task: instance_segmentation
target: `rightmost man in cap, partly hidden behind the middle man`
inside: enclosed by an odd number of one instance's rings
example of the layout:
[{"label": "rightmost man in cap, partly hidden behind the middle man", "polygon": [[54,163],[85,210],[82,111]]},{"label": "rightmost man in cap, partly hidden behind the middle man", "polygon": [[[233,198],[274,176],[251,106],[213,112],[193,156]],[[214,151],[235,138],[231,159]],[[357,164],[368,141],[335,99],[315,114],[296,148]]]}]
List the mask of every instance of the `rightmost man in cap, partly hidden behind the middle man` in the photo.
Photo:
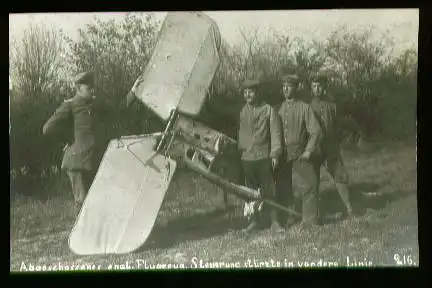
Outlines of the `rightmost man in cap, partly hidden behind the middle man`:
[{"label": "rightmost man in cap, partly hidden behind the middle man", "polygon": [[348,189],[349,176],[344,168],[339,148],[336,104],[324,99],[326,83],[327,78],[323,74],[318,74],[311,83],[311,107],[323,128],[321,142],[322,164],[333,178],[348,216],[352,216],[353,209],[349,200]]}]

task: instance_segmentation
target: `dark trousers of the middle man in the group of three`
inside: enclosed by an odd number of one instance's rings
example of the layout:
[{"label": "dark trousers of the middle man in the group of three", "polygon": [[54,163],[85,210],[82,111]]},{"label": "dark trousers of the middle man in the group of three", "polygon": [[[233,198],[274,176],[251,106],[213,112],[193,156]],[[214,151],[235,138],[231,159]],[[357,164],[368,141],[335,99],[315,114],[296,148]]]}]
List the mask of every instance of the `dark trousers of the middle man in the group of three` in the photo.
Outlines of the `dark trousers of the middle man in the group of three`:
[{"label": "dark trousers of the middle man in the group of three", "polygon": [[[284,206],[290,207],[302,215],[302,222],[316,225],[319,223],[319,159],[309,161],[282,161],[276,170],[276,199]],[[299,190],[293,189],[293,170],[300,176],[302,185]],[[279,221],[285,222],[285,215],[279,215]]]}]

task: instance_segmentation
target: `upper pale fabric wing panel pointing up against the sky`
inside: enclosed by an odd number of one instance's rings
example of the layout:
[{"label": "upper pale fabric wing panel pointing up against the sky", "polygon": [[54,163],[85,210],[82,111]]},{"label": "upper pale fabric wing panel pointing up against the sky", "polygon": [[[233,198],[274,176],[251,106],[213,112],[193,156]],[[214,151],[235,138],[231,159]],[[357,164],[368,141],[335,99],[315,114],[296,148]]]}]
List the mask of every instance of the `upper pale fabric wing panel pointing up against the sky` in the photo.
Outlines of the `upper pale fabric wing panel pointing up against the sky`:
[{"label": "upper pale fabric wing panel pointing up against the sky", "polygon": [[170,12],[135,96],[167,120],[171,109],[195,116],[220,62],[216,23],[199,12]]}]

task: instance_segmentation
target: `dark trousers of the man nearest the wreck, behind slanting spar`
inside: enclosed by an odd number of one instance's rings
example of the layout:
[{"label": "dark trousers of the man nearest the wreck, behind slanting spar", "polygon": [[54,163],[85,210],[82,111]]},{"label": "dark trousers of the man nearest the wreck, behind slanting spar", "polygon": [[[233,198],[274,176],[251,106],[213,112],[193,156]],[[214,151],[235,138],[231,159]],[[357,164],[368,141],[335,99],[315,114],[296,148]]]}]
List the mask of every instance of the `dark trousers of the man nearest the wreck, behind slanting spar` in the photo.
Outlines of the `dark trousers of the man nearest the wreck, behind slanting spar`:
[{"label": "dark trousers of the man nearest the wreck, behind slanting spar", "polygon": [[[260,189],[262,197],[274,198],[275,187],[271,159],[242,161],[242,164],[246,186],[252,189]],[[270,207],[263,205],[261,212],[256,215],[257,218],[261,218],[260,222],[269,221]]]}]

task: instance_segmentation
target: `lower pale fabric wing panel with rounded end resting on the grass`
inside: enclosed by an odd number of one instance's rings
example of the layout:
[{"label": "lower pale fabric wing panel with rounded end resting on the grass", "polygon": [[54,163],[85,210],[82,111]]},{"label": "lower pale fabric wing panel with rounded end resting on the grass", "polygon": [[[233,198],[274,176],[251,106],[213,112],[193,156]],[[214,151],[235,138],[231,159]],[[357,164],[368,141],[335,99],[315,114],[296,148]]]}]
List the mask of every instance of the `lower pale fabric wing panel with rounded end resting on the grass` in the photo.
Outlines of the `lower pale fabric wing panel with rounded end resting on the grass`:
[{"label": "lower pale fabric wing panel with rounded end resting on the grass", "polygon": [[154,155],[155,141],[110,142],[69,237],[73,252],[129,253],[146,241],[176,168],[175,161]]}]

